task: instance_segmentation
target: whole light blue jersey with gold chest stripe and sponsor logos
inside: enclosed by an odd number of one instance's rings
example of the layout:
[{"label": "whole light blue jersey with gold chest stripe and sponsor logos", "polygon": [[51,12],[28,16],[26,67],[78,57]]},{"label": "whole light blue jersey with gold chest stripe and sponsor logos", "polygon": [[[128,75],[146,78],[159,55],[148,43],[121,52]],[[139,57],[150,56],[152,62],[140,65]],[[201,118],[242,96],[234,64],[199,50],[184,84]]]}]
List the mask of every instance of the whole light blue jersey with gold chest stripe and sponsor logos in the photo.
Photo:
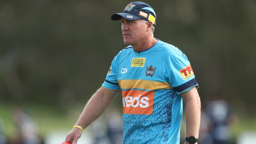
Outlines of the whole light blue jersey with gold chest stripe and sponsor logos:
[{"label": "whole light blue jersey with gold chest stripe and sponsor logos", "polygon": [[179,94],[198,84],[187,56],[177,47],[158,41],[143,52],[124,48],[102,86],[122,90],[123,144],[180,143]]}]

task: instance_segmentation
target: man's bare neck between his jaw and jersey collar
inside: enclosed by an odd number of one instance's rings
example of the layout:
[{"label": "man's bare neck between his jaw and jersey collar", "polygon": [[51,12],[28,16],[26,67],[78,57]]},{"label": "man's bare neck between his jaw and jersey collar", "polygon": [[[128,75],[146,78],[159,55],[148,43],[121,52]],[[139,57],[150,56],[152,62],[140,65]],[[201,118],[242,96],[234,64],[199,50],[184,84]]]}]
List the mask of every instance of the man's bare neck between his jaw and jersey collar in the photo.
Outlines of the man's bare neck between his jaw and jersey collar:
[{"label": "man's bare neck between his jaw and jersey collar", "polygon": [[156,42],[158,42],[158,40],[156,40],[154,37],[150,37],[149,39],[145,39],[141,41],[137,45],[132,45],[132,48],[136,52],[142,52],[154,46]]}]

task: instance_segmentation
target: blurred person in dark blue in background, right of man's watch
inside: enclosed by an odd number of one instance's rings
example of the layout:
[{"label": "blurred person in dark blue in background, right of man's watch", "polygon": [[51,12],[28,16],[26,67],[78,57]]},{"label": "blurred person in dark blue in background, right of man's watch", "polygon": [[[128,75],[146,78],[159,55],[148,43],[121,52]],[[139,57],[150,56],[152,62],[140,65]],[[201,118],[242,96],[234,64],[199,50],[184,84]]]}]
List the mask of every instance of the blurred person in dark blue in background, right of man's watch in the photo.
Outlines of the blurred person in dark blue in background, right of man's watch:
[{"label": "blurred person in dark blue in background, right of man's watch", "polygon": [[218,95],[211,97],[206,111],[201,114],[200,143],[230,144],[230,126],[237,122],[230,105]]}]

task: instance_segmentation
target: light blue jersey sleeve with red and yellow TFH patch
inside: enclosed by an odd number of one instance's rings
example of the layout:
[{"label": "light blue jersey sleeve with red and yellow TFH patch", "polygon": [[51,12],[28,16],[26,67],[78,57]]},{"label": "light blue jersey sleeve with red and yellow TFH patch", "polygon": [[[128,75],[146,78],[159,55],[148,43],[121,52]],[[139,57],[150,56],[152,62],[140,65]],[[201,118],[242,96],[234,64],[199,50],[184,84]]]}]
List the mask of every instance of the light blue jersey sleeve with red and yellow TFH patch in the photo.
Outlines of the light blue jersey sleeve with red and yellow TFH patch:
[{"label": "light blue jersey sleeve with red and yellow TFH patch", "polygon": [[169,84],[176,90],[177,94],[187,92],[193,87],[199,87],[195,80],[193,69],[185,54],[179,50],[177,53],[171,55],[170,59],[171,73]]}]

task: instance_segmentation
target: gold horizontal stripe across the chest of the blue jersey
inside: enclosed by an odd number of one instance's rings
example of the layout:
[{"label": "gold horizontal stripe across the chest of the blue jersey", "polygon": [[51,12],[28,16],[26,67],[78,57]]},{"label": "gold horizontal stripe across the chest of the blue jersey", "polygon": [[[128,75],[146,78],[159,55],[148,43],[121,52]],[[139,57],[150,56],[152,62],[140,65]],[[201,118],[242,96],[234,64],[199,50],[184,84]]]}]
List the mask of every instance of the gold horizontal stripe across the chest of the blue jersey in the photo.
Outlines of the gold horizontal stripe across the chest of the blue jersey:
[{"label": "gold horizontal stripe across the chest of the blue jersey", "polygon": [[118,80],[121,89],[172,89],[168,82],[148,81],[144,79],[121,79]]}]

